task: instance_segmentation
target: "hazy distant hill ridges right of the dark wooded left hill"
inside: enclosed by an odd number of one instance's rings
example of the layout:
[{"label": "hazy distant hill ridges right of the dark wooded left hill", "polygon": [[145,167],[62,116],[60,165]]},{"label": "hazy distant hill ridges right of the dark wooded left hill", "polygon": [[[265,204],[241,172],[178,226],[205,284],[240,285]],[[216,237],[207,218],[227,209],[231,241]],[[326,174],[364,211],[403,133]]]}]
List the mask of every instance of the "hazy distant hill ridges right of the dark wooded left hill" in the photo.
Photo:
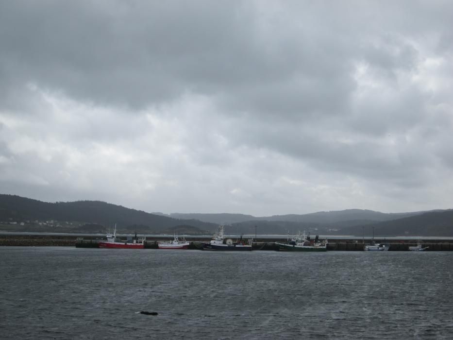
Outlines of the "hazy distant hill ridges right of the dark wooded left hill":
[{"label": "hazy distant hill ridges right of the dark wooded left hill", "polygon": [[[376,235],[386,236],[449,236],[453,235],[453,223],[449,224],[449,210],[414,211],[403,213],[382,213],[367,209],[347,209],[339,211],[319,211],[310,214],[273,215],[269,217],[254,217],[244,214],[182,214],[174,213],[169,216],[179,218],[195,218],[205,222],[225,224],[225,232],[230,234],[295,234],[299,230],[310,231],[320,235],[355,235],[362,233],[371,235],[371,227],[375,227]],[[433,215],[440,214],[440,215]],[[428,217],[427,217],[428,216]],[[437,221],[430,221],[437,216]],[[412,218],[410,220],[406,220]],[[406,221],[423,221],[423,225],[413,228]],[[441,222],[442,221],[442,222]],[[418,225],[413,224],[413,225]],[[448,227],[450,225],[450,227]],[[364,227],[364,228],[362,228]],[[368,235],[366,234],[366,235]]]}]

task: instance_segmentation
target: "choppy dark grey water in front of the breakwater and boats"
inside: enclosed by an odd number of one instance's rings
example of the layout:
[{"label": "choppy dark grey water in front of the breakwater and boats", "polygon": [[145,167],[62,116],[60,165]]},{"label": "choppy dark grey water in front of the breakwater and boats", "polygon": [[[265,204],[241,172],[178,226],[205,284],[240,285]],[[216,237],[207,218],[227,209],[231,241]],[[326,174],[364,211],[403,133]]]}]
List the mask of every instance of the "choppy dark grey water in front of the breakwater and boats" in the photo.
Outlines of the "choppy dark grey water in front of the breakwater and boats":
[{"label": "choppy dark grey water in front of the breakwater and boats", "polygon": [[453,338],[453,252],[2,247],[0,259],[2,339]]}]

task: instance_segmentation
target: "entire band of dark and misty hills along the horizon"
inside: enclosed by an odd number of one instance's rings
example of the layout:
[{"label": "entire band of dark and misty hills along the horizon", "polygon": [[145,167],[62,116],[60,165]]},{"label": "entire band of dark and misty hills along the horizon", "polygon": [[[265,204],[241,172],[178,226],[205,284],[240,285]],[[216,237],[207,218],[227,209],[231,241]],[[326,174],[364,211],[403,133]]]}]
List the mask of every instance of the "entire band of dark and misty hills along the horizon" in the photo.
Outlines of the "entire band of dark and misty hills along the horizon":
[{"label": "entire band of dark and misty hills along the horizon", "polygon": [[[50,221],[49,221],[50,220]],[[49,222],[49,223],[48,223]],[[46,203],[0,194],[2,230],[43,232],[104,232],[117,224],[118,232],[210,234],[218,224],[227,234],[453,236],[453,211],[433,210],[382,213],[364,209],[320,211],[310,214],[254,217],[245,214],[147,213],[100,201]]]}]

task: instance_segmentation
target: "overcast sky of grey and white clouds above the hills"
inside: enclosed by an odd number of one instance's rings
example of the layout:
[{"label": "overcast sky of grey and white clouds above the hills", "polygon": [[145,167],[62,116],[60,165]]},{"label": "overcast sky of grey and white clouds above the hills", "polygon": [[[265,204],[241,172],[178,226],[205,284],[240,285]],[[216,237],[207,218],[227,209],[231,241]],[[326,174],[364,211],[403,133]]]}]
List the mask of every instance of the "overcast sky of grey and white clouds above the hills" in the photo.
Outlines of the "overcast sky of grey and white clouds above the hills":
[{"label": "overcast sky of grey and white clouds above the hills", "polygon": [[453,207],[452,1],[0,1],[0,193]]}]

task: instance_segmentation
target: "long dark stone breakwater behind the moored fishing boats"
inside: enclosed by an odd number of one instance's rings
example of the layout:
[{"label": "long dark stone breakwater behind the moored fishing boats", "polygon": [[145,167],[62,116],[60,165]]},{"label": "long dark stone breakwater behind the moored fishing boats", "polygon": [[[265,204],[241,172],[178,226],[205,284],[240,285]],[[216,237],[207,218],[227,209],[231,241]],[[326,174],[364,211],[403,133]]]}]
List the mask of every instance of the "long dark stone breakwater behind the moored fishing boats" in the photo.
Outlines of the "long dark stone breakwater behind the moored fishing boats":
[{"label": "long dark stone breakwater behind the moored fishing boats", "polygon": [[[157,249],[159,241],[168,241],[172,235],[140,235],[146,237],[145,249]],[[121,241],[127,241],[134,235],[118,235]],[[227,236],[236,239],[235,235]],[[212,236],[185,236],[189,242],[189,249],[202,249],[202,244],[209,242]],[[325,237],[320,236],[320,239]],[[52,233],[0,233],[0,246],[67,246],[80,248],[98,248],[99,242],[105,240],[105,235],[94,234],[52,234]],[[257,235],[253,237],[243,237],[243,240],[252,244],[253,250],[276,250],[275,242],[286,242],[286,236],[282,235]],[[365,244],[371,243],[371,238],[354,238],[345,236],[329,236],[328,251],[363,251]],[[375,237],[376,243],[389,246],[388,251],[407,251],[409,247],[416,246],[418,243],[427,247],[426,251],[453,251],[453,237]]]}]

